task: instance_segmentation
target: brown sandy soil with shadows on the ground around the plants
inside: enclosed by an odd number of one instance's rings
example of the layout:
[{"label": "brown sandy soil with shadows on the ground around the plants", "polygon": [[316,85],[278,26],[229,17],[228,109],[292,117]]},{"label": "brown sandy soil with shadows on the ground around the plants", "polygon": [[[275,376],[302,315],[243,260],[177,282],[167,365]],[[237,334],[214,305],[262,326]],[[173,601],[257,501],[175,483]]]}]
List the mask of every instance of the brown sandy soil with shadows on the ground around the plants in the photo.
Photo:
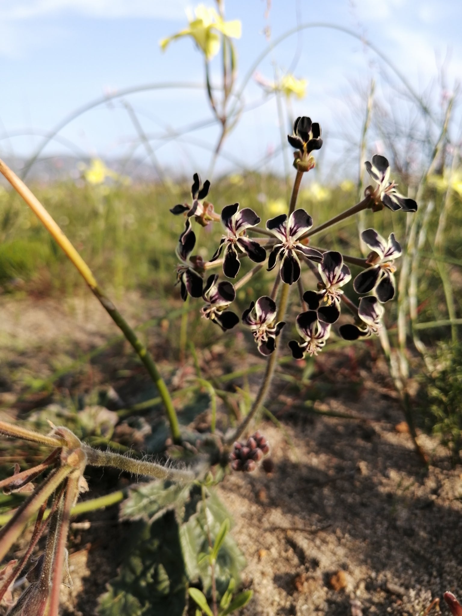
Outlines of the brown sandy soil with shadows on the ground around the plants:
[{"label": "brown sandy soil with shadows on the ground around the plants", "polygon": [[[136,321],[147,306],[128,302],[129,317]],[[88,351],[117,333],[92,298],[40,306],[2,299],[0,323],[3,403],[18,393],[14,362],[21,375],[44,378],[53,368],[50,347]],[[357,366],[347,352],[326,355],[314,381],[328,392],[314,411],[301,406],[304,394],[294,398],[285,381],[275,382],[271,408],[285,432],[268,421],[261,426],[273,472],[233,472],[219,487],[247,559],[243,583],[254,590],[241,614],[418,616],[446,590],[462,595],[462,466],[453,467],[437,440],[421,434],[431,458],[423,465],[381,359]],[[99,479],[89,474],[92,495]],[[108,471],[103,487],[127,483]],[[93,614],[116,574],[128,532],[117,516],[116,507],[97,511],[71,529],[67,616]]]}]

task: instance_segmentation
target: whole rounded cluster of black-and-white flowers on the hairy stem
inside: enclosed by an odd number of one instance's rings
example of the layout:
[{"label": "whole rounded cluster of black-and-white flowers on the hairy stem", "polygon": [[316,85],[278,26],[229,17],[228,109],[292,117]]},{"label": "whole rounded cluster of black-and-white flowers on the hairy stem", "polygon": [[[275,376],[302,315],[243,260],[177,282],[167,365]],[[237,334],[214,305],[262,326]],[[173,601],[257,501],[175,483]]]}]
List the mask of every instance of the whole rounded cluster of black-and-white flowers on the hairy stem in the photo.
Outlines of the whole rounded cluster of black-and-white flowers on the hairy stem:
[{"label": "whole rounded cluster of black-and-white flowers on the hairy stem", "polygon": [[[294,158],[298,173],[312,168],[314,159],[311,153],[322,147],[319,124],[307,117],[297,118],[293,134],[288,135],[288,141],[296,148]],[[395,188],[396,184],[389,180],[389,163],[384,156],[373,156],[365,166],[375,181],[376,188],[367,187],[366,198],[359,205],[372,211],[383,209],[384,206],[392,211],[416,211],[415,201],[400,195]],[[383,304],[395,295],[395,260],[402,254],[402,248],[394,233],[386,240],[375,229],[366,229],[362,232],[362,240],[371,251],[367,258],[347,257],[336,250],[313,248],[309,245],[310,235],[325,229],[328,223],[313,229],[312,217],[303,208],[295,209],[294,203],[287,214],[270,218],[264,226],[259,227],[261,217],[251,208],[241,208],[239,203],[225,206],[221,214],[215,213],[213,205],[206,201],[210,182],[206,180],[202,184],[198,174],[194,174],[193,180],[192,204],[176,205],[171,212],[177,216],[185,216],[185,228],[176,251],[179,259],[176,271],[180,294],[184,300],[188,295],[202,298],[205,302],[201,309],[203,317],[211,320],[223,331],[232,329],[241,321],[251,331],[258,351],[265,356],[271,355],[286,324],[283,320],[285,309],[278,310],[277,306],[278,288],[280,283],[296,283],[302,310],[295,320],[299,340],[288,343],[294,359],[317,355],[323,349],[332,326],[339,321],[342,302],[346,303],[355,316],[354,323],[343,323],[339,326],[338,331],[342,338],[355,340],[380,331]],[[332,222],[336,220],[338,217]],[[192,254],[196,243],[193,222],[203,226],[221,222],[224,231],[209,261]],[[236,280],[246,257],[256,265],[235,282],[234,286],[230,281]],[[353,280],[346,261],[362,267]],[[236,298],[236,290],[251,280],[265,262],[268,272],[275,270],[278,265],[272,293],[251,302],[239,317],[230,309]],[[225,278],[229,280],[219,280],[218,274],[208,275],[205,279],[206,272],[218,266],[222,267]],[[304,267],[314,273],[317,288],[303,290],[301,277]],[[357,306],[344,294],[344,287],[351,280],[352,289],[360,296]]]}]

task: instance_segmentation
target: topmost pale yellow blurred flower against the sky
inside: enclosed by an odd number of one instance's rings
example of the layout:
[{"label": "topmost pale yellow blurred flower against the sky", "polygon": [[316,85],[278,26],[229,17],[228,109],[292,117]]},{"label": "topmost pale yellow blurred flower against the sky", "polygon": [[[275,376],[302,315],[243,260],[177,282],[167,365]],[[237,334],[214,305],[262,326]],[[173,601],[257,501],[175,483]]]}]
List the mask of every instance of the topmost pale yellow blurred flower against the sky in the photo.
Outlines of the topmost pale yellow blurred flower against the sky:
[{"label": "topmost pale yellow blurred flower against the sky", "polygon": [[220,50],[220,37],[217,33],[229,38],[241,38],[241,22],[238,19],[225,22],[215,9],[208,8],[204,4],[200,4],[194,13],[195,15],[187,11],[188,28],[160,41],[162,51],[165,51],[171,41],[183,36],[192,36],[206,59],[211,60]]}]

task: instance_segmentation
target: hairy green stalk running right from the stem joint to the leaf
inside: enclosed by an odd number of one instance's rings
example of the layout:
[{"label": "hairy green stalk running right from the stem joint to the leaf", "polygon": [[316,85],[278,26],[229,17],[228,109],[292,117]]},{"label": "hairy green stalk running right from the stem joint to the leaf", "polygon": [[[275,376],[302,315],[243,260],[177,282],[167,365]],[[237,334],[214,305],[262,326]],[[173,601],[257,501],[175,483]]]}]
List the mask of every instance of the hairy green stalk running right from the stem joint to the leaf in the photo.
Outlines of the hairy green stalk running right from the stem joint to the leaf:
[{"label": "hairy green stalk running right from the stem joint to the leaf", "polygon": [[134,460],[115,452],[101,452],[92,449],[88,445],[82,445],[82,450],[87,456],[89,466],[111,466],[121,471],[131,472],[134,475],[155,477],[156,479],[170,479],[176,482],[188,482],[195,479],[192,471],[180,471],[179,469],[167,468],[153,462]]}]

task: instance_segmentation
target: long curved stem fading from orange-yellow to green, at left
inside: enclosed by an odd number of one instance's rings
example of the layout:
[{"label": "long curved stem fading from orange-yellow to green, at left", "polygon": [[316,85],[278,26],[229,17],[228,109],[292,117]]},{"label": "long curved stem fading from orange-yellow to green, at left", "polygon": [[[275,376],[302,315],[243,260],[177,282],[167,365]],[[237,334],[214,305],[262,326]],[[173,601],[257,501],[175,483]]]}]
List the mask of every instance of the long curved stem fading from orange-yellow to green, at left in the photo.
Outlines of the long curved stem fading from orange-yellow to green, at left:
[{"label": "long curved stem fading from orange-yellow to green, at left", "polygon": [[[134,350],[137,352],[140,360],[144,363],[145,368],[153,379],[153,382],[155,383],[155,386],[157,387],[158,392],[162,398],[170,423],[173,440],[175,442],[180,442],[181,434],[178,419],[176,416],[176,411],[173,406],[172,399],[168,392],[167,386],[155,365],[152,355],[150,355],[145,346],[139,341],[134,330],[132,330],[132,328],[128,325],[126,320],[122,317],[122,315],[116,309],[110,299],[108,299],[105,294],[103,294],[102,290],[98,286],[97,281],[95,280],[94,275],[91,272],[91,269],[88,267],[86,262],[84,262],[82,257],[76,251],[68,238],[64,235],[60,227],[56,224],[54,219],[46,211],[40,201],[35,197],[35,195],[33,195],[29,188],[26,187],[22,180],[20,180],[18,176],[13,171],[11,171],[11,169],[9,169],[9,167],[7,167],[7,165],[1,160],[0,172],[6,177],[6,179],[10,182],[10,184],[18,192],[18,194],[23,198],[23,200],[25,200],[27,205],[32,209],[34,214],[36,214],[38,219],[43,223],[44,227],[51,234],[51,236],[54,238],[60,248],[62,248],[65,254],[67,254],[70,261],[75,265],[75,267],[79,271],[79,274],[82,275],[85,282],[90,287],[91,291],[94,293],[95,297],[107,310],[112,320],[120,328],[126,339],[130,342]],[[41,440],[41,442],[43,442],[43,440]],[[54,447],[59,447],[59,445],[60,443],[53,444]]]}]

